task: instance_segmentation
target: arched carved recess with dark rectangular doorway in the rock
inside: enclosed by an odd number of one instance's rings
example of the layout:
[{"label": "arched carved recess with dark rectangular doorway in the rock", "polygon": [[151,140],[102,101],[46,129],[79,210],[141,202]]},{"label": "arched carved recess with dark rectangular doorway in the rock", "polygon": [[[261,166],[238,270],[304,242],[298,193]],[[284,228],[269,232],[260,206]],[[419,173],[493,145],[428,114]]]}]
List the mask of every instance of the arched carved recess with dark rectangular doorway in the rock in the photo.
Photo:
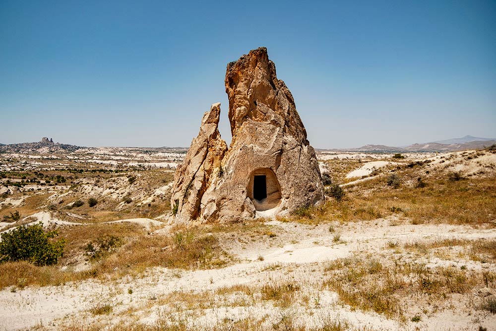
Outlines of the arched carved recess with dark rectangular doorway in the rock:
[{"label": "arched carved recess with dark rectangular doorway in the rock", "polygon": [[255,210],[277,207],[281,202],[281,186],[276,174],[270,168],[255,169],[249,177],[247,195]]}]

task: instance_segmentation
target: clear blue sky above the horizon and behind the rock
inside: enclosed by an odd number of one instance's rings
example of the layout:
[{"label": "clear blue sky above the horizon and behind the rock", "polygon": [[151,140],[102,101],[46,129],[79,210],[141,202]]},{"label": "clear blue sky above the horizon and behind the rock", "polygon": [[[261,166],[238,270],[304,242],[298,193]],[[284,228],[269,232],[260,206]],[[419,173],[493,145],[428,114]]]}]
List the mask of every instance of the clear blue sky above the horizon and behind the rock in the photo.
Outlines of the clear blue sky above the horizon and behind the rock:
[{"label": "clear blue sky above the horizon and behind the rock", "polygon": [[189,146],[265,46],[317,148],[496,137],[496,1],[0,0],[0,142]]}]

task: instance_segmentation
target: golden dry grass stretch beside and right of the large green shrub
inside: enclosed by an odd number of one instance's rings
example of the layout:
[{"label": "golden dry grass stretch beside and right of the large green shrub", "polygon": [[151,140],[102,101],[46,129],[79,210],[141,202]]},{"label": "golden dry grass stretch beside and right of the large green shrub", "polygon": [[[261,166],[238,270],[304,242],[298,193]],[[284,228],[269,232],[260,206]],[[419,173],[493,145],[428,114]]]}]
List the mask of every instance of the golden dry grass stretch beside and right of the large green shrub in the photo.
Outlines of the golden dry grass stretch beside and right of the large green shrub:
[{"label": "golden dry grass stretch beside and right of the large green shrub", "polygon": [[[26,285],[60,285],[103,275],[110,275],[112,279],[127,274],[136,276],[151,266],[215,268],[229,261],[217,237],[200,229],[179,231],[173,235],[148,235],[142,228],[130,223],[91,224],[63,227],[61,235],[66,238],[67,244],[59,265],[40,267],[25,262],[0,264],[0,288],[16,286],[19,278],[26,278]],[[62,264],[83,262],[85,244],[105,235],[122,239],[124,245],[114,254],[90,264],[84,271],[72,271],[71,268],[61,270]]]}]

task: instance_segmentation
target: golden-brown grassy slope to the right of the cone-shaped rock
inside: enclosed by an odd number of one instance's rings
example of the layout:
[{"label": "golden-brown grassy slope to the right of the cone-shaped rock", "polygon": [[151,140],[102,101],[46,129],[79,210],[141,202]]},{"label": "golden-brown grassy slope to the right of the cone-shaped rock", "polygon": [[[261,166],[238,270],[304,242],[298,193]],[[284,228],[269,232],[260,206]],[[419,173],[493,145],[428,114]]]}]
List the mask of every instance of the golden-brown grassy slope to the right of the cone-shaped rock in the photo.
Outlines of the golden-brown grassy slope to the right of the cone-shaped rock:
[{"label": "golden-brown grassy slope to the right of the cone-shaped rock", "polygon": [[279,218],[305,224],[329,220],[373,220],[388,215],[410,219],[413,224],[448,223],[496,227],[496,179],[466,181],[428,180],[425,188],[401,186],[392,189],[385,178],[346,188],[342,201],[329,199],[321,206],[307,208],[305,215]]}]

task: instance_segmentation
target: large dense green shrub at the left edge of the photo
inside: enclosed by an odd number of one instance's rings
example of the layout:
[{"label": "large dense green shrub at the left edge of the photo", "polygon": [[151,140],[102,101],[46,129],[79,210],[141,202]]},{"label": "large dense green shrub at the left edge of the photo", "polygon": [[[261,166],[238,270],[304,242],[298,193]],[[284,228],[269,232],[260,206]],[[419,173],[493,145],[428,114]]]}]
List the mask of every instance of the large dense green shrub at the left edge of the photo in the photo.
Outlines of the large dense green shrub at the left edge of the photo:
[{"label": "large dense green shrub at the left edge of the photo", "polygon": [[55,265],[63,254],[65,239],[51,241],[56,230],[45,231],[43,223],[21,225],[0,235],[0,262],[28,261],[35,265]]}]

